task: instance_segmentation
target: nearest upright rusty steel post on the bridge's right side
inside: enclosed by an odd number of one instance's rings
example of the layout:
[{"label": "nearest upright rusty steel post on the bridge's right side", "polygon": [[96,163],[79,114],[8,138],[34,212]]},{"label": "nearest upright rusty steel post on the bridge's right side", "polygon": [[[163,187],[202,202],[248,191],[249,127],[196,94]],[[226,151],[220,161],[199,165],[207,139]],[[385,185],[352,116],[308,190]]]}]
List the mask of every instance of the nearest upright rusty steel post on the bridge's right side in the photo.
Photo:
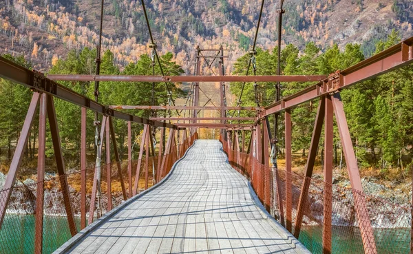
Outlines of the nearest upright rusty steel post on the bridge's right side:
[{"label": "nearest upright rusty steel post on the bridge's right side", "polygon": [[324,223],[323,223],[323,253],[331,253],[331,215],[332,215],[332,138],[333,112],[330,96],[326,100],[324,112]]}]

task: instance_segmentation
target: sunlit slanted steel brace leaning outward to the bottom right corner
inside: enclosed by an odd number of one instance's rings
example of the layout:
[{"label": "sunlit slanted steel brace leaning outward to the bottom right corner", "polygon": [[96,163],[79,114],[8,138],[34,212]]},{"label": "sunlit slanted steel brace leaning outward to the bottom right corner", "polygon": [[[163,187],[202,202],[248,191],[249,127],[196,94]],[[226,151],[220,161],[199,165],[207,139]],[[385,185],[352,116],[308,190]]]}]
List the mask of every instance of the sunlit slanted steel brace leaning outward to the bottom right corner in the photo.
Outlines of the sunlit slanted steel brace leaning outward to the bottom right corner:
[{"label": "sunlit slanted steel brace leaning outward to the bottom right corner", "polygon": [[361,186],[359,167],[357,166],[356,156],[352,147],[346,114],[344,113],[343,102],[341,101],[339,93],[332,96],[332,107],[334,108],[337,127],[339,127],[339,134],[341,145],[343,145],[344,158],[346,158],[347,171],[352,187],[354,207],[356,209],[357,220],[359,222],[364,251],[368,254],[375,254],[377,253],[376,242],[374,241],[373,229],[370,222],[370,217],[368,215],[366,198],[364,198],[363,195],[363,187]]}]

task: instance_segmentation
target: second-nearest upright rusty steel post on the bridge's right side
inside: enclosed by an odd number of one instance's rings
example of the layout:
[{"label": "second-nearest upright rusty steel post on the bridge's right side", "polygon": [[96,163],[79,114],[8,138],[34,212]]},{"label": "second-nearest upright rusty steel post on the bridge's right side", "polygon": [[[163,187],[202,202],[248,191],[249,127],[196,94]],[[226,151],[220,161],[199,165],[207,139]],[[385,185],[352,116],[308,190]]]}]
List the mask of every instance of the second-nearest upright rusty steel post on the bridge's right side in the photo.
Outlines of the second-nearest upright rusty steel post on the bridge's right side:
[{"label": "second-nearest upright rusty steel post on the bridge's right side", "polygon": [[291,186],[291,109],[286,109],[284,122],[286,128],[286,229],[291,233],[293,221],[293,187]]}]

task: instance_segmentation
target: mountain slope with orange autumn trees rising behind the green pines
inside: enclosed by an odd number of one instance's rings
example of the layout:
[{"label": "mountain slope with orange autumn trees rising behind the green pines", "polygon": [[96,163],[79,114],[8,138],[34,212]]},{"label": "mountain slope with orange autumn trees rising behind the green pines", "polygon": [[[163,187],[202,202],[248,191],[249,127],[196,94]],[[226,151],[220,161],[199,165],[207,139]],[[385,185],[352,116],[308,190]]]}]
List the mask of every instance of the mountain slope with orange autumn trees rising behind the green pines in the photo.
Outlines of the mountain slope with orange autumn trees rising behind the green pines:
[{"label": "mountain slope with orange autumn trees rising behind the green pines", "polygon": [[[260,1],[145,1],[158,49],[171,51],[187,73],[195,45],[229,49],[226,73],[251,45]],[[277,3],[266,1],[257,44],[272,50],[277,37]],[[322,49],[338,43],[362,43],[366,55],[392,28],[412,36],[409,0],[291,0],[284,3],[283,39],[302,47],[315,41]],[[100,1],[6,0],[0,3],[0,53],[24,54],[47,71],[69,50],[96,47]],[[121,67],[149,52],[149,33],[140,1],[105,1],[103,49],[112,50]],[[216,72],[216,70],[213,70]],[[211,71],[204,67],[204,74]]]}]

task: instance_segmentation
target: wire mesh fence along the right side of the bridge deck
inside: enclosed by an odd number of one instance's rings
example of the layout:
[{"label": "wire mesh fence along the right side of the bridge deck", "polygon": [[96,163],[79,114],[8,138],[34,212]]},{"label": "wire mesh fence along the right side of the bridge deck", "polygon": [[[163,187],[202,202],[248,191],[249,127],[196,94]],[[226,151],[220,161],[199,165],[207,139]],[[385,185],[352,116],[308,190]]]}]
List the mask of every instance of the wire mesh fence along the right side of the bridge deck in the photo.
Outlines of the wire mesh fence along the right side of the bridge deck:
[{"label": "wire mesh fence along the right side of the bridge deck", "polygon": [[[229,163],[251,180],[264,207],[288,231],[299,235],[311,253],[374,253],[374,249],[410,253],[412,204],[396,204],[351,187],[267,167],[253,153],[235,151],[225,140],[221,142]],[[308,192],[301,195],[306,184]],[[302,219],[297,225],[299,212]]]}]

